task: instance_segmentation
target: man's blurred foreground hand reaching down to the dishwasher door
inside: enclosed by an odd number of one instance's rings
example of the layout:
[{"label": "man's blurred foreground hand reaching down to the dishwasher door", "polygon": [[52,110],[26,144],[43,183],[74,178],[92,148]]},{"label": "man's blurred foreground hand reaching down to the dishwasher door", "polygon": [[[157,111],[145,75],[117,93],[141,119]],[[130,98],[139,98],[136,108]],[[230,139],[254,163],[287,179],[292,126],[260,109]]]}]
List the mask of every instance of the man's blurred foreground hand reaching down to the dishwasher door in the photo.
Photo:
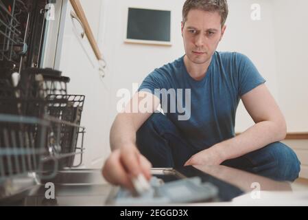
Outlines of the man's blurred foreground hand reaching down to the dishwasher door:
[{"label": "man's blurred foreground hand reaching down to the dishwasher door", "polygon": [[136,146],[128,146],[112,151],[104,164],[102,173],[111,184],[133,190],[132,177],[142,173],[147,180],[150,180],[151,167],[151,163],[139,153]]}]

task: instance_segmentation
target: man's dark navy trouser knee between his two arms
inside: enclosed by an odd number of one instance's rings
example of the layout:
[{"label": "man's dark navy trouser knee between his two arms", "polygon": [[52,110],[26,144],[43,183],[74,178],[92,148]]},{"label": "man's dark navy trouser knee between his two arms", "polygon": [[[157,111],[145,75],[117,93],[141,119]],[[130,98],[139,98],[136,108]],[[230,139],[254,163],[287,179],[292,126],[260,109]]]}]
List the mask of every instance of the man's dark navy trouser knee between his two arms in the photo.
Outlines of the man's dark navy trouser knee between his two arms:
[{"label": "man's dark navy trouser knee between his two arms", "polygon": [[182,166],[196,153],[178,127],[162,113],[154,113],[137,131],[137,147],[154,167]]}]

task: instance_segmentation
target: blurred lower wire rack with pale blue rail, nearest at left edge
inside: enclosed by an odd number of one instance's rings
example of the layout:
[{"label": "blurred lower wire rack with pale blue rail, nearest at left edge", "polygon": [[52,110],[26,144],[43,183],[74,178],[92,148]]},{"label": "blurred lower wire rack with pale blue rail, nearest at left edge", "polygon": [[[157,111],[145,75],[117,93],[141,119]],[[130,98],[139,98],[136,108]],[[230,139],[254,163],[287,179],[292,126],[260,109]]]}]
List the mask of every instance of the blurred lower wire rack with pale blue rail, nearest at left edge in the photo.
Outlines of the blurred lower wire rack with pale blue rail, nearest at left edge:
[{"label": "blurred lower wire rack with pale blue rail, nearest at left edge", "polygon": [[47,126],[38,118],[0,114],[1,178],[38,170]]}]

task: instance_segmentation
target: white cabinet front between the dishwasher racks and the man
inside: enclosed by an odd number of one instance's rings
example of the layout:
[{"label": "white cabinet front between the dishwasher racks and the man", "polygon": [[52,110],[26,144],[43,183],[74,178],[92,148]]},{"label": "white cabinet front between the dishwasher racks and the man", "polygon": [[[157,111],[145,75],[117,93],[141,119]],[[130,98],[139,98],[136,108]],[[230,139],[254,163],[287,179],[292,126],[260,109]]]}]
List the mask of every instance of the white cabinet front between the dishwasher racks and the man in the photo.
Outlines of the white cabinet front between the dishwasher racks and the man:
[{"label": "white cabinet front between the dishwasher racks and the man", "polygon": [[[99,18],[101,3],[99,1],[81,1],[91,25],[93,34],[97,39],[99,32]],[[99,6],[99,7],[98,7]],[[61,21],[58,31],[56,61],[54,68],[60,69],[64,76],[69,76],[69,94],[82,94],[86,96],[82,111],[81,125],[86,127],[84,135],[84,162],[82,168],[101,168],[109,150],[108,125],[108,73],[104,78],[99,76],[97,59],[84,35],[80,33],[81,26],[77,21],[73,25],[71,19],[71,4],[62,2]],[[75,28],[75,30],[74,30]],[[77,159],[79,157],[76,157]]]}]

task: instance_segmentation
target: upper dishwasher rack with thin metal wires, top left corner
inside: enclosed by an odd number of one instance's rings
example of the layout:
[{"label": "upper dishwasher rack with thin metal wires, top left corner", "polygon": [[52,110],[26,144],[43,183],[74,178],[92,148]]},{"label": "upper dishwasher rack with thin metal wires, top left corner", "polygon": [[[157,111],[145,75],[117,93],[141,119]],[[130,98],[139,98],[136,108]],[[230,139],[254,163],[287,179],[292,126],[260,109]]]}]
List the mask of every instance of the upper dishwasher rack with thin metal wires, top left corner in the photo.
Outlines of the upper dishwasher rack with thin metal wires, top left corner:
[{"label": "upper dishwasher rack with thin metal wires, top left corner", "polygon": [[45,43],[46,5],[51,0],[0,1],[0,78],[40,67]]}]

